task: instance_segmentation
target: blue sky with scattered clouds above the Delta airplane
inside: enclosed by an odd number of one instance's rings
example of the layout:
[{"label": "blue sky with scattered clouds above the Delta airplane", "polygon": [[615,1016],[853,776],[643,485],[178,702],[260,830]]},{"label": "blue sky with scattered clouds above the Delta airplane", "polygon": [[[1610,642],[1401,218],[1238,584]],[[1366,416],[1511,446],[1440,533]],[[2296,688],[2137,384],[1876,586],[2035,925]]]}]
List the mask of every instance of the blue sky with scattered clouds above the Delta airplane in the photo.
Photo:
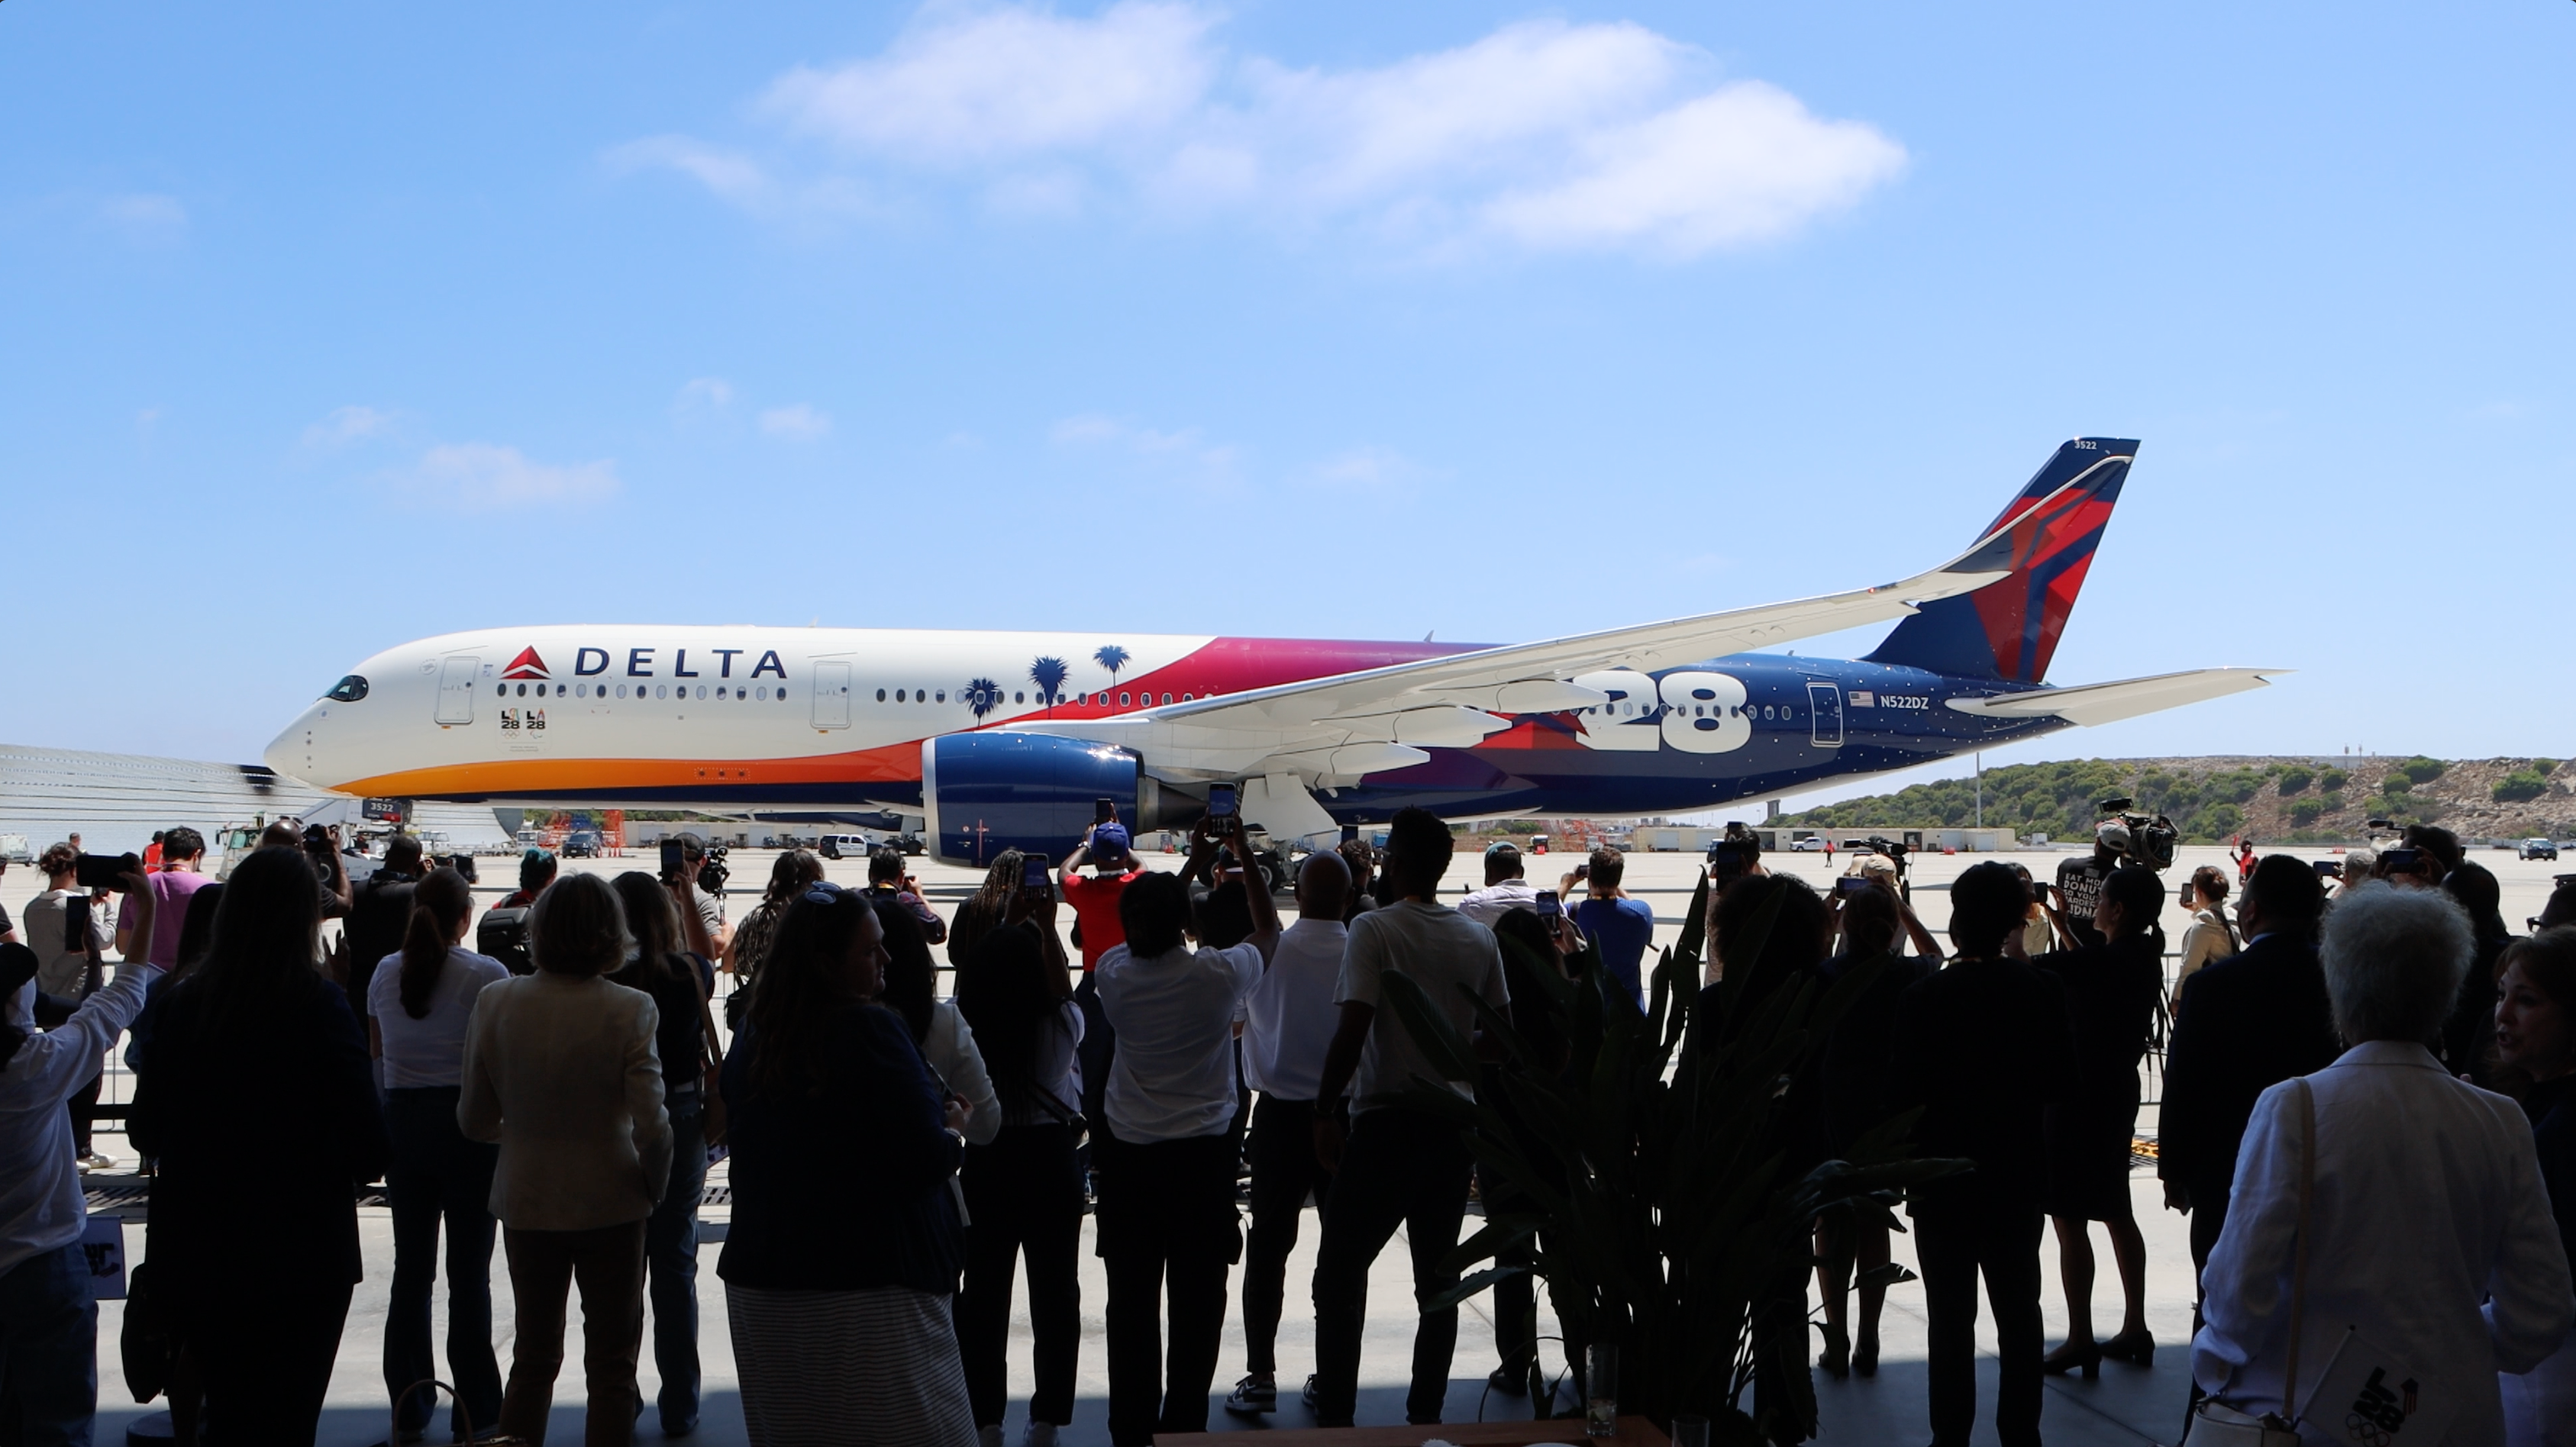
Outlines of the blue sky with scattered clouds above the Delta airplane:
[{"label": "blue sky with scattered clouds above the Delta airplane", "polygon": [[2571,39],[15,0],[0,736],[250,760],[513,621],[1600,628],[1914,572],[2094,433],[2053,680],[2300,672],[2014,757],[2568,754]]}]

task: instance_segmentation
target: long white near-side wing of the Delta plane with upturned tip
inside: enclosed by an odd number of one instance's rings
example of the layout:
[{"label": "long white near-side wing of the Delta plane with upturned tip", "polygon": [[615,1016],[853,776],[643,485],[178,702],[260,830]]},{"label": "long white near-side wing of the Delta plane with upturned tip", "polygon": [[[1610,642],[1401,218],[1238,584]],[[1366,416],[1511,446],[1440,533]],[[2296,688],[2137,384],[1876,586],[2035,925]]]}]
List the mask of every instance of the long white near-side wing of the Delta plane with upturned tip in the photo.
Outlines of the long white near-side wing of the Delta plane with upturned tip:
[{"label": "long white near-side wing of the Delta plane with upturned tip", "polygon": [[1170,703],[1118,718],[1018,726],[1139,749],[1146,767],[1164,778],[1242,772],[1358,778],[1417,765],[1430,757],[1422,749],[1473,747],[1486,734],[1510,729],[1502,713],[1607,703],[1607,695],[1566,682],[1579,672],[1667,669],[1904,618],[1919,602],[1973,592],[2009,574],[2009,551],[2007,525],[1999,525],[1947,564],[1883,587],[1479,649]]}]

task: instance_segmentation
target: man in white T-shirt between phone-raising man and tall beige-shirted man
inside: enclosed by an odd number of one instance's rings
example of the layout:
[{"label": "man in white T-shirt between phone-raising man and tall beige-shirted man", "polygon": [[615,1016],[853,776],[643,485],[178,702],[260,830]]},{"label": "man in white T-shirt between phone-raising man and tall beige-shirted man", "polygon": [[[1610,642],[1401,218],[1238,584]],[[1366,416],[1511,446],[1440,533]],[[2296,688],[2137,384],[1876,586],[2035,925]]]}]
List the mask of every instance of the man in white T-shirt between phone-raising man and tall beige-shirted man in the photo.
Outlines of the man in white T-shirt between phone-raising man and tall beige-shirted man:
[{"label": "man in white T-shirt between phone-raising man and tall beige-shirted man", "polygon": [[1252,1107],[1252,1238],[1244,1244],[1244,1380],[1226,1411],[1257,1416],[1278,1408],[1278,1331],[1288,1295],[1288,1254],[1298,1215],[1314,1197],[1316,1215],[1332,1172],[1314,1156],[1314,1094],[1324,1053],[1342,1020],[1337,984],[1350,929],[1350,865],[1337,852],[1306,855],[1296,875],[1296,924],[1244,1002],[1244,1084],[1262,1092]]}]

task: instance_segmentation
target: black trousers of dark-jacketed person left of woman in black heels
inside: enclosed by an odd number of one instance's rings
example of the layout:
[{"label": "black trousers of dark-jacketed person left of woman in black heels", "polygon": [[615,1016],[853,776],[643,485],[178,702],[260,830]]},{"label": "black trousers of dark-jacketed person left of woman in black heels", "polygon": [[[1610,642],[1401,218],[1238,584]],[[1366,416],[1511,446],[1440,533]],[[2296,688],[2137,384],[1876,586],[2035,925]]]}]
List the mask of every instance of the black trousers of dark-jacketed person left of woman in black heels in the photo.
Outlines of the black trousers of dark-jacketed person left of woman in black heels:
[{"label": "black trousers of dark-jacketed person left of woman in black heels", "polygon": [[2040,1442],[2040,1202],[1958,1200],[1914,1208],[1914,1259],[1929,1318],[1932,1442],[1965,1447],[1976,1426],[1976,1280],[1994,1303],[1994,1432]]}]

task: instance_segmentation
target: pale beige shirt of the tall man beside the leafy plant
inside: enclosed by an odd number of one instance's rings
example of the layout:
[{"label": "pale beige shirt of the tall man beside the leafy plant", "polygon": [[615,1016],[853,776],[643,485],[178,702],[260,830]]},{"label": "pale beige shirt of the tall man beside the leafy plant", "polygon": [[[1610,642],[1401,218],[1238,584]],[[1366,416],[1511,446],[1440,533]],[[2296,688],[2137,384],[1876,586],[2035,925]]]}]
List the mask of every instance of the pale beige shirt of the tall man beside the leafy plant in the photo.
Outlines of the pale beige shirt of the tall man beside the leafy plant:
[{"label": "pale beige shirt of the tall man beside the leafy plant", "polygon": [[[1512,1004],[1502,986],[1502,945],[1494,942],[1492,929],[1466,914],[1445,904],[1399,899],[1352,919],[1334,1002],[1360,1002],[1378,1012],[1368,1025],[1360,1074],[1350,1087],[1352,1110],[1396,1105],[1396,1092],[1417,1076],[1440,1079],[1440,1066],[1422,1053],[1422,1045],[1414,1045],[1412,1030],[1381,1002],[1378,978],[1386,971],[1404,971],[1430,996],[1432,1009],[1450,1022],[1450,1030],[1468,1040],[1476,1038],[1476,1009],[1458,999],[1458,986],[1497,1009]],[[1121,1045],[1126,1045],[1123,1038]],[[1448,1081],[1448,1087],[1468,1099],[1476,1097],[1476,1081]]]}]

